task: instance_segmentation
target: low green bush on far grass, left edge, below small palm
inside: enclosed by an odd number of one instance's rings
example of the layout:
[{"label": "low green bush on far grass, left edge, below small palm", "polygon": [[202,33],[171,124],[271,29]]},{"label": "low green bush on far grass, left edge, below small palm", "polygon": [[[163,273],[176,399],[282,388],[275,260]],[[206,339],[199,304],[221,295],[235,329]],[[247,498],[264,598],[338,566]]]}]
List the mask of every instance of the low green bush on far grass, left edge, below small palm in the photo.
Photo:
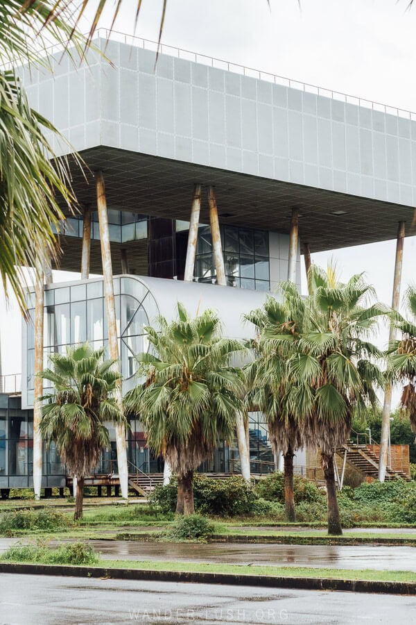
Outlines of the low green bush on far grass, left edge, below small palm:
[{"label": "low green bush on far grass, left edge, below small palm", "polygon": [[12,510],[3,512],[0,517],[0,534],[14,530],[53,531],[65,530],[73,523],[62,512],[53,508],[42,510]]}]

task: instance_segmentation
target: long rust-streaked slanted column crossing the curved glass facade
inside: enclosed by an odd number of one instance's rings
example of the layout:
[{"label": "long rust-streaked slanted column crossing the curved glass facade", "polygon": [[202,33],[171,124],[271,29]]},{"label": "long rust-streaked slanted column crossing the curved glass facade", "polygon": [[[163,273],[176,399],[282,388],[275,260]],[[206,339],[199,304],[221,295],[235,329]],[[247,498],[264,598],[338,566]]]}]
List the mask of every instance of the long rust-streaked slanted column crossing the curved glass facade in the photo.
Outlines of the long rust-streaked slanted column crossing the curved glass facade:
[{"label": "long rust-streaked slanted column crossing the curved glass facade", "polygon": [[[105,185],[102,172],[96,173],[96,193],[97,193],[97,210],[98,223],[100,226],[101,240],[101,258],[103,262],[103,283],[105,309],[107,312],[107,328],[108,328],[108,351],[112,360],[116,360],[116,367],[120,367],[119,361],[119,341],[117,339],[116,326],[116,306],[114,303],[114,286],[112,277],[111,249],[110,249],[110,233],[108,229],[107,201],[105,199]],[[119,381],[116,389],[116,399],[122,406],[123,398],[121,394],[121,381]],[[117,462],[119,465],[119,478],[121,485],[121,496],[128,498],[128,467],[127,452],[125,445],[125,428],[116,426],[116,447]]]}]

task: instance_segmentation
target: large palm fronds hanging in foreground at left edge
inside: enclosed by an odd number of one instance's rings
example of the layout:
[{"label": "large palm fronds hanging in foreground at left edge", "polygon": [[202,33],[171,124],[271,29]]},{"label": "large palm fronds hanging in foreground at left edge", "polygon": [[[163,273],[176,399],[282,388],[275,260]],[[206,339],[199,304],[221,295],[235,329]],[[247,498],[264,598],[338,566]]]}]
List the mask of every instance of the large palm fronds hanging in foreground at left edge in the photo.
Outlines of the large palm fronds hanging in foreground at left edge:
[{"label": "large palm fronds hanging in foreground at left edge", "polygon": [[[64,215],[60,204],[73,196],[69,170],[56,159],[44,131],[58,134],[52,124],[28,104],[16,65],[48,67],[42,50],[63,43],[73,30],[69,8],[42,28],[55,2],[0,3],[0,278],[6,296],[15,293],[21,310],[24,299],[22,266],[37,267],[58,256],[55,232]],[[73,35],[76,51],[82,38]]]}]

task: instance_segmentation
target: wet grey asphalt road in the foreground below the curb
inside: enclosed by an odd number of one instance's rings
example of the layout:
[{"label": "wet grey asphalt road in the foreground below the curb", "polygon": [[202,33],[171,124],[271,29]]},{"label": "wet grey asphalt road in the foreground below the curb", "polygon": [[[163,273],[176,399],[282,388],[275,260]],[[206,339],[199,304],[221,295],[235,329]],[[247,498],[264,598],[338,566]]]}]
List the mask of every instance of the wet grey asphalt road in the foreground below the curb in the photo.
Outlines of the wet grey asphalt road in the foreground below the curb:
[{"label": "wet grey asphalt road in the foreground below the curb", "polygon": [[0,625],[410,625],[415,619],[414,597],[0,576]]}]

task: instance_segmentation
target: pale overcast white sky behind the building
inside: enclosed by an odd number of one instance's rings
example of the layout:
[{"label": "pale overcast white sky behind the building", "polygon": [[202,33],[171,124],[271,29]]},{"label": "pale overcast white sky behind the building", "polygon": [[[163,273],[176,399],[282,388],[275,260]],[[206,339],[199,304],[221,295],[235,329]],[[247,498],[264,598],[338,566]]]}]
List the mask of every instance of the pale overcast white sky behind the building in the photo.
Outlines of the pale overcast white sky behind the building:
[{"label": "pale overcast white sky behind the building", "polygon": [[[133,34],[135,6],[124,0],[116,30]],[[161,11],[162,0],[143,0],[136,34],[157,40]],[[88,22],[87,14],[83,30]],[[109,15],[102,25],[110,26]],[[162,42],[416,111],[415,35],[408,0],[270,0],[270,9],[266,0],[168,0]],[[390,303],[395,241],[317,253],[313,261],[327,265],[331,257],[345,278],[365,271]],[[416,238],[406,238],[402,287],[415,280],[415,260]],[[68,274],[55,275],[62,278]],[[8,312],[0,305],[3,374],[19,372],[19,315],[13,303]]]}]

